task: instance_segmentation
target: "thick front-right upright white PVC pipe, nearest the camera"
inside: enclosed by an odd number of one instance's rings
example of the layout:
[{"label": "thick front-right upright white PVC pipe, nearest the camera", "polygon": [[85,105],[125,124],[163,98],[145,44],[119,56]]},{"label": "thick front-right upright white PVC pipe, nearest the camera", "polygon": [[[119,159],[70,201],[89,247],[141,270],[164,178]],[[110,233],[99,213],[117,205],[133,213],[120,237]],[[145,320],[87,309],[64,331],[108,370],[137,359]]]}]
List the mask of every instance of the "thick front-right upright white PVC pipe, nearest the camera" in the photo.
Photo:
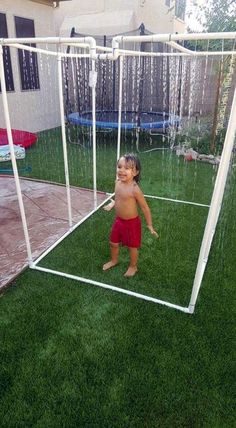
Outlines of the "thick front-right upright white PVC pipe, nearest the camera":
[{"label": "thick front-right upright white PVC pipe, nearest the camera", "polygon": [[211,243],[214,237],[215,228],[220,214],[222,199],[224,195],[227,175],[230,165],[230,157],[233,150],[236,134],[236,89],[228,123],[228,128],[224,141],[224,148],[221,155],[221,162],[216,177],[211,206],[208,213],[206,227],[203,235],[202,245],[199,253],[196,274],[193,283],[192,295],[189,303],[189,312],[193,313],[197,301],[199,289],[202,283],[203,274],[206,268]]}]

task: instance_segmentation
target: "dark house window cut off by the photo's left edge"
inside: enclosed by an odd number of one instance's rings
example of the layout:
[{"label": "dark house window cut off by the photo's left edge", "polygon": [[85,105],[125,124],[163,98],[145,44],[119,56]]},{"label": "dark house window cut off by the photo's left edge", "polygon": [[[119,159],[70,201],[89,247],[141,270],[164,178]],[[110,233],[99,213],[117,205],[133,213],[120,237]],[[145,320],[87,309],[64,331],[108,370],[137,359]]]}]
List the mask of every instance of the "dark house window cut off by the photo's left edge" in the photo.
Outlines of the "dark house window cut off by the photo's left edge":
[{"label": "dark house window cut off by the photo's left edge", "polygon": [[[7,20],[5,13],[0,13],[0,38],[8,38],[7,32]],[[6,80],[6,89],[7,91],[14,91],[14,82],[11,66],[11,55],[9,46],[3,46],[3,64],[4,64],[4,73]],[[0,86],[1,91],[1,86]]]}]

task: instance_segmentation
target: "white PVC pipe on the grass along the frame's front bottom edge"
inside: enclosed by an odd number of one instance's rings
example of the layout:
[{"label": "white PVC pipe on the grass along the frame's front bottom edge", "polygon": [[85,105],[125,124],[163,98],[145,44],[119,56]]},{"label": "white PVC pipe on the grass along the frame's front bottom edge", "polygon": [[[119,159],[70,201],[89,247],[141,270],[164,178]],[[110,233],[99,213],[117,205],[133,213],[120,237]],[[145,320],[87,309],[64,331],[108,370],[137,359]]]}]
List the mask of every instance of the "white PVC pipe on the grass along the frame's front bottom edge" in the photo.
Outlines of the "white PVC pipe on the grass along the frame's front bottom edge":
[{"label": "white PVC pipe on the grass along the frame's front bottom edge", "polygon": [[84,282],[85,284],[96,285],[97,287],[106,288],[108,290],[116,291],[118,293],[126,294],[128,296],[137,297],[138,299],[147,300],[148,302],[157,303],[159,305],[167,306],[172,309],[177,309],[178,311],[185,312],[186,314],[190,313],[189,309],[183,306],[175,305],[173,303],[166,302],[165,300],[156,299],[155,297],[146,296],[145,294],[136,293],[131,290],[126,290],[125,288],[115,287],[114,285],[93,281],[92,279],[83,278],[81,276],[76,276],[76,275],[70,275],[68,273],[64,273],[64,272],[60,272],[60,271],[56,271],[48,268],[43,268],[40,266],[31,266],[31,269],[39,270],[41,272],[51,273],[53,275],[58,275],[63,278],[73,279],[75,281]]}]

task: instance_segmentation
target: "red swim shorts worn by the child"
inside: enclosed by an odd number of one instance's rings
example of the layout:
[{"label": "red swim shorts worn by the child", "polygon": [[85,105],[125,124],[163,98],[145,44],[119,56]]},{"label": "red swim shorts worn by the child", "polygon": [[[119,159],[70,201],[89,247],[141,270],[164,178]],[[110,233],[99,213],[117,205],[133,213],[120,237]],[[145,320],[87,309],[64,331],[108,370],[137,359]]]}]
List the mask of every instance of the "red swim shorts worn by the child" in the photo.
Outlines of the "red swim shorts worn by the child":
[{"label": "red swim shorts worn by the child", "polygon": [[122,244],[129,248],[139,248],[141,245],[140,217],[129,220],[116,217],[111,229],[110,242]]}]

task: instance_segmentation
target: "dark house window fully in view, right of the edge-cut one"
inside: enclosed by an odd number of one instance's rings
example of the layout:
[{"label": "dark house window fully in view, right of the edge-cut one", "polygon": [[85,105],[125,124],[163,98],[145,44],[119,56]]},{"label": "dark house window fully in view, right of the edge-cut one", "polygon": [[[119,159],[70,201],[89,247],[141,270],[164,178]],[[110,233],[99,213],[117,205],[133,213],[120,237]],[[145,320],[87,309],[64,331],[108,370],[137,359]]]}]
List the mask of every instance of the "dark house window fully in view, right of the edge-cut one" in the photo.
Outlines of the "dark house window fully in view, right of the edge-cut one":
[{"label": "dark house window fully in view, right of the edge-cut one", "polygon": [[[16,37],[35,37],[34,21],[15,16]],[[35,43],[28,46],[36,47]],[[18,49],[22,90],[39,89],[38,60],[35,52]]]}]

